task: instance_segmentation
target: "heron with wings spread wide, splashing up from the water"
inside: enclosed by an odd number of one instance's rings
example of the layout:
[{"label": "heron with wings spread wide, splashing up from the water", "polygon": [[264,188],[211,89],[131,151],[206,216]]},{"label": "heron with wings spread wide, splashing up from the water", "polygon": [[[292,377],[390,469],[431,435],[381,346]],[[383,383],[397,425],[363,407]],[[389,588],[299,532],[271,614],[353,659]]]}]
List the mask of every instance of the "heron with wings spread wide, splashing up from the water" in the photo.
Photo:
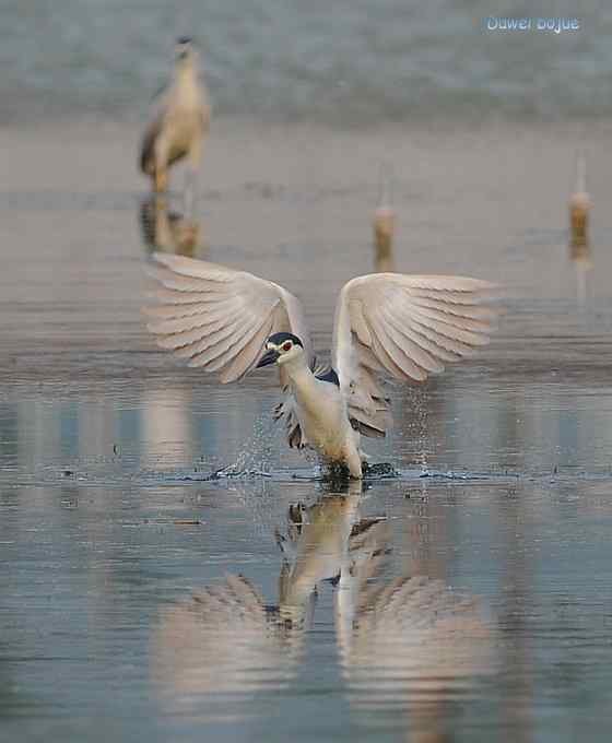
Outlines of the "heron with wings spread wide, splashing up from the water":
[{"label": "heron with wings spread wide, splashing up from the water", "polygon": [[374,273],[340,292],[331,369],[318,373],[302,305],[286,290],[245,271],[155,253],[162,305],[149,329],[176,356],[239,379],[280,367],[291,447],[310,447],[328,464],[362,477],[360,436],[385,436],[389,401],[378,375],[423,381],[489,342],[492,284],[461,276]]}]

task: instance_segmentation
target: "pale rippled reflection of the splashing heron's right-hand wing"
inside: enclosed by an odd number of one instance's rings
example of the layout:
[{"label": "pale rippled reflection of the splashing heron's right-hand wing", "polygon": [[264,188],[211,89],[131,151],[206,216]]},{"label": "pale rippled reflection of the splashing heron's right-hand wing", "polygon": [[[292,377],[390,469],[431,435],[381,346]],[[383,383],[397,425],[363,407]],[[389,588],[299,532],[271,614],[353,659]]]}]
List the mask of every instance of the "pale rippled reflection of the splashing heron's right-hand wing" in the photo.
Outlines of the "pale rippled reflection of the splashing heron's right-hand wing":
[{"label": "pale rippled reflection of the splashing heron's right-hand wing", "polygon": [[358,595],[352,625],[341,634],[351,698],[436,700],[461,689],[485,668],[489,630],[478,600],[442,580],[399,576]]}]

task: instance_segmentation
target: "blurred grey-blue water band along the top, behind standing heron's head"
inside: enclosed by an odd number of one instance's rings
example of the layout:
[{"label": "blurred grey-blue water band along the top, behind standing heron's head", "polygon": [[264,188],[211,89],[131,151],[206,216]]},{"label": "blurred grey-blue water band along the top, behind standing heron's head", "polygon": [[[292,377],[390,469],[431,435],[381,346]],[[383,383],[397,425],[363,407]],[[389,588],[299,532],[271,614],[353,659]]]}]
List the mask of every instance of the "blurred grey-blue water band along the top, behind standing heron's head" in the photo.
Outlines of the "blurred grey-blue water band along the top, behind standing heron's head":
[{"label": "blurred grey-blue water band along the top, behind standing heron's head", "polygon": [[[486,31],[491,15],[579,31]],[[363,128],[432,119],[575,120],[612,111],[601,0],[3,0],[0,121],[138,119],[178,35],[199,43],[219,118]]]}]

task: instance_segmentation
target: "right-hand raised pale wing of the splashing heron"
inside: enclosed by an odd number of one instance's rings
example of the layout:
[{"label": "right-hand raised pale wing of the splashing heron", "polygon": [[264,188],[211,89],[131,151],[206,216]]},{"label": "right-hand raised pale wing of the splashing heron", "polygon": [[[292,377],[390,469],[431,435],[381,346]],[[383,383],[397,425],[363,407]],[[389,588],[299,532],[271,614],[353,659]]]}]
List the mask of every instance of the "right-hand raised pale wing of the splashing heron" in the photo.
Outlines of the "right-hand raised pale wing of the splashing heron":
[{"label": "right-hand raised pale wing of the splashing heron", "polygon": [[489,342],[493,285],[462,276],[374,273],[345,284],[336,308],[332,366],[353,425],[382,436],[390,425],[378,374],[422,381]]}]

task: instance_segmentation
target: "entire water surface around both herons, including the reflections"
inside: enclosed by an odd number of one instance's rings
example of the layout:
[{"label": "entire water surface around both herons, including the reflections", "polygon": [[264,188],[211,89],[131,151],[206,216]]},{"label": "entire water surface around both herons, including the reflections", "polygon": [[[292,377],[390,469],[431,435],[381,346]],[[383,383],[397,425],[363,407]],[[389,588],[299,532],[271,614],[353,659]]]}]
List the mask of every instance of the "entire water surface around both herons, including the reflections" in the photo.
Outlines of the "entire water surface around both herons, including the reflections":
[{"label": "entire water surface around both herons, including the reflections", "polygon": [[[611,32],[603,0],[0,1],[0,740],[608,741]],[[138,170],[184,34],[189,213],[183,166],[163,200]],[[354,275],[509,296],[482,353],[389,386],[366,448],[400,476],[360,500],[286,449],[273,375],[156,349],[154,250],[286,286],[322,361]]]}]

